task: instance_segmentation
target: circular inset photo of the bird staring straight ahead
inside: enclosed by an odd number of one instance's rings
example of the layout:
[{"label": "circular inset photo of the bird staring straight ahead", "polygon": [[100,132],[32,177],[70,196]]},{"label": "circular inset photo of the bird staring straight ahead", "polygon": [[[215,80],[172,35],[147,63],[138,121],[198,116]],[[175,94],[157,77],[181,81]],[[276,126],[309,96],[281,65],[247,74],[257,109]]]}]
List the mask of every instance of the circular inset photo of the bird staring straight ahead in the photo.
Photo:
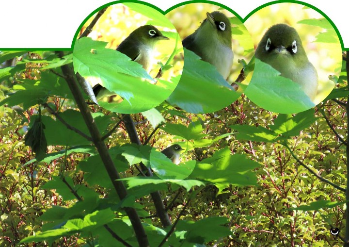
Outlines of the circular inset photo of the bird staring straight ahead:
[{"label": "circular inset photo of the bird staring straight ahead", "polygon": [[276,113],[308,110],[332,91],[342,67],[335,27],[315,9],[274,3],[245,21],[254,41],[255,66],[246,96]]}]

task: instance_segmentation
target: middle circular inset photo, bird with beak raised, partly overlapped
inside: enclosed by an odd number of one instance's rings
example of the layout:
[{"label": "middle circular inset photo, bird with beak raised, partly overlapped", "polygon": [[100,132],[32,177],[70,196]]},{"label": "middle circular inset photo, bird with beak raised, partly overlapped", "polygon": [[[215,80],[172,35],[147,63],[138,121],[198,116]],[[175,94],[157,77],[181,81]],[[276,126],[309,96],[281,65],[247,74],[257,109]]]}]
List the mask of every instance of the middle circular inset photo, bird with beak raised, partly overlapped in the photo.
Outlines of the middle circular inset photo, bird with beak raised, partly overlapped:
[{"label": "middle circular inset photo, bird with beak raised, partly overlapped", "polygon": [[254,66],[253,42],[241,18],[210,3],[174,6],[166,16],[185,55],[182,77],[167,100],[190,113],[208,113],[238,99]]}]

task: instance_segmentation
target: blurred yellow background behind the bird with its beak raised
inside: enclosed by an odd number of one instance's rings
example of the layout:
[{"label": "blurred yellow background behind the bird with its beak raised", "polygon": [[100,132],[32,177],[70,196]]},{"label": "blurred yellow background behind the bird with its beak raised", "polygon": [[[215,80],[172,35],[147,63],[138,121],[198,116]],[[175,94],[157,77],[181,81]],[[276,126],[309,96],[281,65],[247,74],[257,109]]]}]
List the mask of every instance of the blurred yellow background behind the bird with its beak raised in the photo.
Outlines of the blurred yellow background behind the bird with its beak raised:
[{"label": "blurred yellow background behind the bird with its beak raised", "polygon": [[[166,16],[174,24],[179,36],[183,40],[193,33],[201,25],[201,22],[206,19],[206,12],[217,10],[225,14],[228,18],[235,16],[228,10],[210,3],[190,3],[182,5],[167,13]],[[250,34],[241,21],[236,18],[234,21],[238,22],[238,24],[232,24],[232,33],[234,32],[234,28],[238,28],[242,32],[239,35],[234,33],[232,35],[234,61],[230,75],[227,79],[230,83],[238,78],[240,70],[242,69],[242,65],[238,63],[238,59],[244,59],[248,63],[254,55],[254,46]],[[252,73],[249,74],[243,83],[248,84],[251,80],[251,76]]]}]

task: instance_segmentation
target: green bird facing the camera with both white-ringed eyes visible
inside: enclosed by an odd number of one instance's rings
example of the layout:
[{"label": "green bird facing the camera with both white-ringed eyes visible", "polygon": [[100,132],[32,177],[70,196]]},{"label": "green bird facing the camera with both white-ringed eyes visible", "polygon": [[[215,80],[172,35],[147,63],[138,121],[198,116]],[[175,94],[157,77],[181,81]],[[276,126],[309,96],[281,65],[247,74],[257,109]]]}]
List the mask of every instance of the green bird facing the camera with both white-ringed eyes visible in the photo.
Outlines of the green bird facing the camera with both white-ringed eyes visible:
[{"label": "green bird facing the camera with both white-ringed eyes visible", "polygon": [[315,99],[317,70],[309,62],[294,28],[286,24],[271,26],[259,42],[255,57],[278,70],[281,76],[298,83],[311,100]]}]

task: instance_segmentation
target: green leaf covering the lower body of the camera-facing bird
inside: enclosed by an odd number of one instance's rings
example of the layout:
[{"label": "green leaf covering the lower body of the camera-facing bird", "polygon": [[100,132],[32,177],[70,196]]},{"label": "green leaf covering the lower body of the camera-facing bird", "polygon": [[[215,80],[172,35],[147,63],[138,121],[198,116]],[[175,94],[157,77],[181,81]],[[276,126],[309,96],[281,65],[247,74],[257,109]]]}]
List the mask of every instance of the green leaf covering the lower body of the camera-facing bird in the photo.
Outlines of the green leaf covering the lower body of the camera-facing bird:
[{"label": "green leaf covering the lower body of the camera-facing bird", "polygon": [[258,106],[277,113],[298,113],[315,106],[299,84],[259,59],[255,59],[254,76],[245,94]]}]

